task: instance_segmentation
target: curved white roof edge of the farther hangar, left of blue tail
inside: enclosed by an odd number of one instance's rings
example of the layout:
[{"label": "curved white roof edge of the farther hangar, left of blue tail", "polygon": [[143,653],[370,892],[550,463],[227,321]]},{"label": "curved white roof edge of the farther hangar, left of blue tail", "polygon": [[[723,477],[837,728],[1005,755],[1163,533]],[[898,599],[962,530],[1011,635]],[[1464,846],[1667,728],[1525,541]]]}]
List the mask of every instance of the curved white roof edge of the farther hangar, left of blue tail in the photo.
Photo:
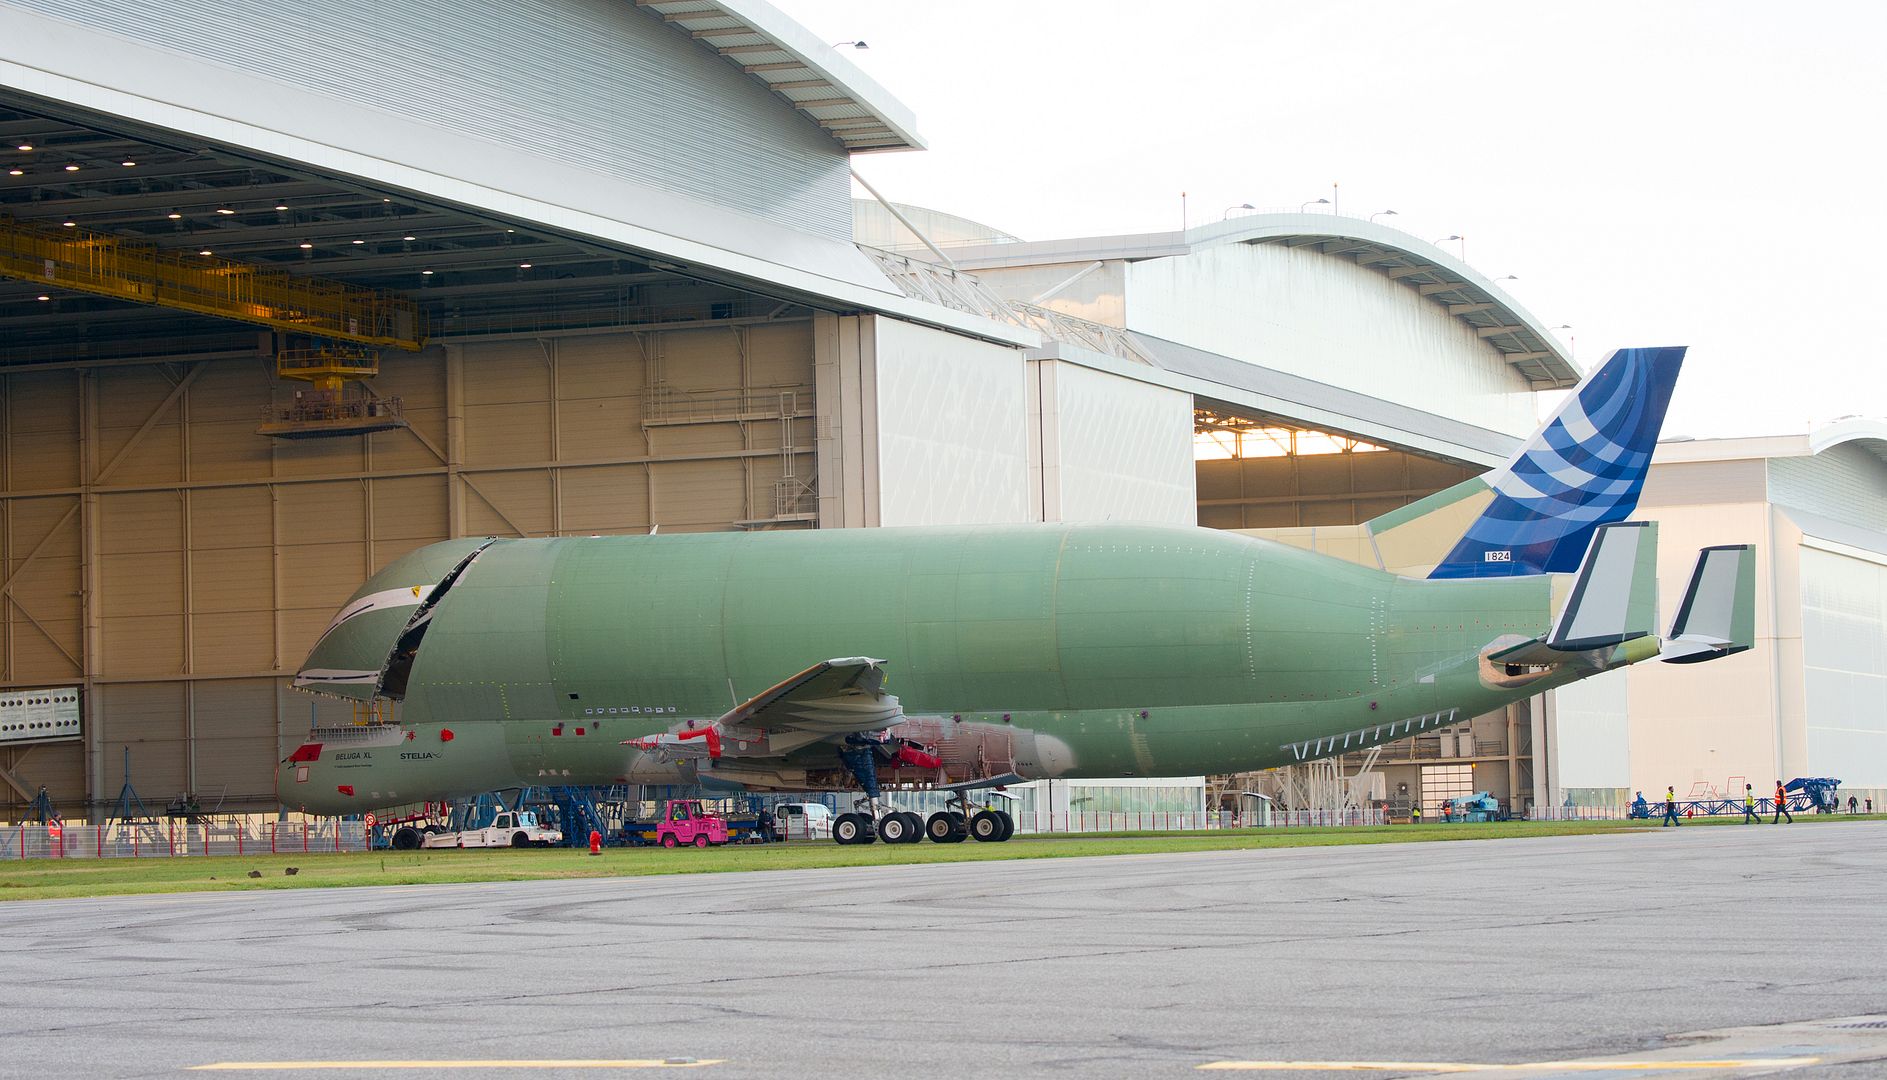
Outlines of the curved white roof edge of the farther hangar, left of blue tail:
[{"label": "curved white roof edge of the farther hangar, left of blue tail", "polygon": [[1042,240],[953,249],[964,270],[1044,262],[1172,259],[1221,244],[1281,244],[1347,259],[1417,291],[1474,329],[1542,389],[1572,387],[1579,368],[1559,342],[1513,296],[1472,266],[1400,228],[1330,213],[1253,213],[1185,232],[1144,232]]}]

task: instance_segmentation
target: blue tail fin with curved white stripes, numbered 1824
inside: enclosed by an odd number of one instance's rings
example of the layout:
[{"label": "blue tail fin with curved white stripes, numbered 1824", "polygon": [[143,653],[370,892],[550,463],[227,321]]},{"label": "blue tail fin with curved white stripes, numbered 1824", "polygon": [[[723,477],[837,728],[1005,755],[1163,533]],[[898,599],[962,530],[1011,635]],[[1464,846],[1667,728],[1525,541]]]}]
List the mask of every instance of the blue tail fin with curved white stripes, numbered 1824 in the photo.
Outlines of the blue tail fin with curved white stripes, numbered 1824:
[{"label": "blue tail fin with curved white stripes, numbered 1824", "polygon": [[1617,349],[1483,480],[1495,498],[1430,578],[1570,574],[1638,508],[1683,347]]}]

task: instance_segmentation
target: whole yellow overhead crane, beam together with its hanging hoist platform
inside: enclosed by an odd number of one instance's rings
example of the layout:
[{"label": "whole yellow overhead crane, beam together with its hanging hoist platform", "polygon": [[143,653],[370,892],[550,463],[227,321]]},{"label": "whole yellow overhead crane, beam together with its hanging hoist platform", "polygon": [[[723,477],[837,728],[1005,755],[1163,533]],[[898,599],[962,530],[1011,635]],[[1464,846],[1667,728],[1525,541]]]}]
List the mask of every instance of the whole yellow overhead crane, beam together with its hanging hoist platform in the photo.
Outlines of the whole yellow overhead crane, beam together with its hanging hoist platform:
[{"label": "whole yellow overhead crane, beam together with its hanging hoist platform", "polygon": [[372,347],[419,351],[426,344],[426,313],[404,296],[6,215],[0,276],[326,338],[276,357],[277,378],[313,389],[270,406],[259,434],[321,438],[406,427],[398,398],[345,393],[349,380],[379,374]]}]

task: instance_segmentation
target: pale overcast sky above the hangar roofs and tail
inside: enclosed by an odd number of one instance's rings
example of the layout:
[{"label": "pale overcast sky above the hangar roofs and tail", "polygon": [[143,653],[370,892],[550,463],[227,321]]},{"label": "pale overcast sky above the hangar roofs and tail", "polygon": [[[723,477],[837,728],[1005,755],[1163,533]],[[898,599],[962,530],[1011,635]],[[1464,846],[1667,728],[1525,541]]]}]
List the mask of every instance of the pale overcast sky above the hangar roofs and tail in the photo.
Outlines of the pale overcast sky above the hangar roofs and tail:
[{"label": "pale overcast sky above the hangar roofs and tail", "polygon": [[1581,366],[1691,346],[1666,434],[1887,415],[1883,2],[774,4],[917,113],[887,198],[1047,240],[1340,183]]}]

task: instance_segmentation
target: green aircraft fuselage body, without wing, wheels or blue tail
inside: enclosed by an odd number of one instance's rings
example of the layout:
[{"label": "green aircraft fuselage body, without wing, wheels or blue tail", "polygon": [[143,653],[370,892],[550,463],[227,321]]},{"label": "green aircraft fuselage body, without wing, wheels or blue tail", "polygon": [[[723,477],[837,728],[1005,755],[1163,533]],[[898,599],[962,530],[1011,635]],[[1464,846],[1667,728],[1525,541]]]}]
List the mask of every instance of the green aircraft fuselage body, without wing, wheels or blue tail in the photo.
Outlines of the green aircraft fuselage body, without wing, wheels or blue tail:
[{"label": "green aircraft fuselage body, without wing, wheels or blue tail", "polygon": [[1655,651],[1485,661],[1547,633],[1553,582],[1411,580],[1155,525],[453,540],[368,582],[298,680],[400,697],[398,723],[315,733],[277,785],[311,812],[542,784],[843,787],[834,740],[715,761],[625,746],[830,657],[885,661],[894,734],[942,748],[953,782],[1268,768]]}]

